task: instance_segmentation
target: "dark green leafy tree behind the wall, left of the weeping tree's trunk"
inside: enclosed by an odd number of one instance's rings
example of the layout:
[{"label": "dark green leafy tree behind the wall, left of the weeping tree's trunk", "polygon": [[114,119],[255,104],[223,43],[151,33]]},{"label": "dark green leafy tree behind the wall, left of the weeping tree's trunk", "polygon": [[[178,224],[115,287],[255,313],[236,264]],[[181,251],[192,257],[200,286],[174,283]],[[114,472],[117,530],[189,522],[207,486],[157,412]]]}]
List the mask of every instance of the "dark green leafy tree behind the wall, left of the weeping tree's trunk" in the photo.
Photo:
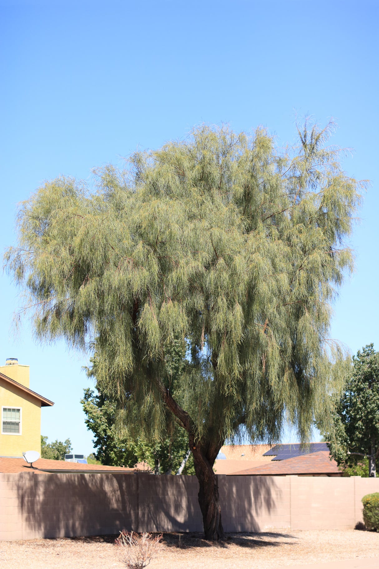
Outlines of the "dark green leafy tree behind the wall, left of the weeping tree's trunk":
[{"label": "dark green leafy tree behind the wall, left of the weeping tree's trunk", "polygon": [[[117,419],[115,402],[86,389],[81,403],[86,414],[85,423],[95,435],[94,458],[101,464],[134,467],[136,463],[145,462],[156,474],[178,472],[189,450],[188,437],[182,428],[174,425],[164,440],[131,440],[120,436],[122,425]],[[194,474],[193,459],[186,461],[182,473]]]}]

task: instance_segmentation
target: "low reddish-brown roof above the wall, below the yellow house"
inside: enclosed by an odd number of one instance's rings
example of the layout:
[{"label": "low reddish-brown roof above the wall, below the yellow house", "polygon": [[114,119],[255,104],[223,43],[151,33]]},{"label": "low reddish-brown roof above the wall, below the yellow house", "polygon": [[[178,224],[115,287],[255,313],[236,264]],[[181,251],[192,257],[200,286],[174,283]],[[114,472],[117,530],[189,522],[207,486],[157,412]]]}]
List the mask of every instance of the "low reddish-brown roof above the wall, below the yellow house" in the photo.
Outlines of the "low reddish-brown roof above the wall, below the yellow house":
[{"label": "low reddish-brown roof above the wall, below the yellow house", "polygon": [[58,473],[58,472],[81,472],[81,473],[101,473],[101,472],[135,472],[134,468],[120,466],[103,466],[101,464],[81,464],[69,463],[64,460],[38,459],[31,468],[24,459],[0,456],[0,473],[30,472],[38,473]]}]

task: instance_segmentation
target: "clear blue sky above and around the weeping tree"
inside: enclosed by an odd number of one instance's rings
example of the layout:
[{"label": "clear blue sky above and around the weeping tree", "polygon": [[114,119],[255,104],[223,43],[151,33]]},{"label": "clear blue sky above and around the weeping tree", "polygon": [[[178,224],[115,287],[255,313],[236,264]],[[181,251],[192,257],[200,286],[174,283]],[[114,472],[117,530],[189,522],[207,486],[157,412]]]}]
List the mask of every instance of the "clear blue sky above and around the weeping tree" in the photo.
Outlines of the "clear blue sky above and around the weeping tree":
[{"label": "clear blue sky above and around the weeping tree", "polygon": [[[137,146],[156,148],[200,122],[264,125],[293,143],[296,117],[334,117],[345,169],[370,179],[351,239],[356,273],[340,291],[332,337],[379,349],[378,15],[376,1],[38,2],[0,0],[0,249],[17,203],[59,174],[89,179]],[[31,366],[55,401],[42,433],[92,450],[80,398],[84,354],[10,332],[17,292],[0,277],[0,362]],[[290,435],[288,435],[289,437]],[[284,441],[288,442],[288,440]]]}]

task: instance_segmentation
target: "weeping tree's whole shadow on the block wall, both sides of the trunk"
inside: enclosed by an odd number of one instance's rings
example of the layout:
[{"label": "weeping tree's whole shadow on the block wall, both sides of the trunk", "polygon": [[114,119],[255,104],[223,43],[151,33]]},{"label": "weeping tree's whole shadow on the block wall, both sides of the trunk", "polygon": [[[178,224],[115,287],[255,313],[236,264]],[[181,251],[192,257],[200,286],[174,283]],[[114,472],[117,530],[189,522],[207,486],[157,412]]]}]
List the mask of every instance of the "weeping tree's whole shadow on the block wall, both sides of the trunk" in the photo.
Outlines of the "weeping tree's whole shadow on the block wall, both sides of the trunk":
[{"label": "weeping tree's whole shadow on the block wall, both sides of the trunk", "polygon": [[[195,476],[37,472],[8,476],[18,501],[23,539],[116,534],[121,529],[203,530]],[[218,483],[224,530],[290,527],[286,477],[219,475]]]}]

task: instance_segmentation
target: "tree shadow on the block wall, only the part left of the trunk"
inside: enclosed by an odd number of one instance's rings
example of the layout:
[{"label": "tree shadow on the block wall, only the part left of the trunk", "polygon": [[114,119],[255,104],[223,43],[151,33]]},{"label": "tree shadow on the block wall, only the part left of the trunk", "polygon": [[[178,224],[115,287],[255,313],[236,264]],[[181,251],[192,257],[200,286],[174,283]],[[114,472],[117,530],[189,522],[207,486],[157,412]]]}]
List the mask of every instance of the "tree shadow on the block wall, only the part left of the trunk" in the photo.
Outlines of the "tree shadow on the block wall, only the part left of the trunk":
[{"label": "tree shadow on the block wall, only the part left of the trunk", "polygon": [[[10,475],[22,538],[202,531],[194,476],[144,473]],[[20,536],[21,537],[21,536]]]}]

